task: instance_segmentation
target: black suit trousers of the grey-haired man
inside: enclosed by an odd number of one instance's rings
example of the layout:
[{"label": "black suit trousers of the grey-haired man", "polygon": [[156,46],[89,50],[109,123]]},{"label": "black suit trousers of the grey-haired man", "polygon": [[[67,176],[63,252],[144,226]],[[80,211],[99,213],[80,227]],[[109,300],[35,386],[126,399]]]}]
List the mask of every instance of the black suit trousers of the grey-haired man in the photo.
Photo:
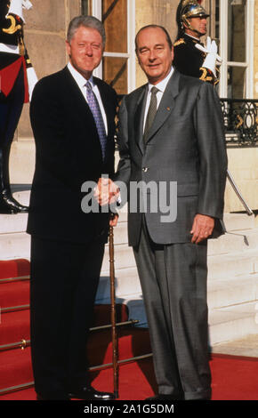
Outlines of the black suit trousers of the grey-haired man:
[{"label": "black suit trousers of the grey-haired man", "polygon": [[66,394],[89,384],[87,331],[104,244],[31,237],[31,355],[37,393]]}]

